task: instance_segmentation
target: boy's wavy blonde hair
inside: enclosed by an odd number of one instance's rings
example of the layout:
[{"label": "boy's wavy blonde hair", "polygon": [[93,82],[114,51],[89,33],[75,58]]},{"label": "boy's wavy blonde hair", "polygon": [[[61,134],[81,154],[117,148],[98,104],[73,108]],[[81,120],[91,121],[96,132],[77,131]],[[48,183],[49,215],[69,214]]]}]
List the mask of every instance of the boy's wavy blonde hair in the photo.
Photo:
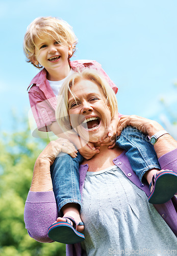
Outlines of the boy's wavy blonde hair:
[{"label": "boy's wavy blonde hair", "polygon": [[[56,17],[38,17],[28,26],[24,35],[23,50],[27,57],[27,62],[31,62],[36,68],[42,68],[39,64],[35,65],[32,61],[35,56],[35,38],[39,38],[46,33],[61,43],[72,46],[72,55],[75,52],[75,45],[78,42],[72,27],[62,19]],[[70,58],[72,55],[69,55]]]}]

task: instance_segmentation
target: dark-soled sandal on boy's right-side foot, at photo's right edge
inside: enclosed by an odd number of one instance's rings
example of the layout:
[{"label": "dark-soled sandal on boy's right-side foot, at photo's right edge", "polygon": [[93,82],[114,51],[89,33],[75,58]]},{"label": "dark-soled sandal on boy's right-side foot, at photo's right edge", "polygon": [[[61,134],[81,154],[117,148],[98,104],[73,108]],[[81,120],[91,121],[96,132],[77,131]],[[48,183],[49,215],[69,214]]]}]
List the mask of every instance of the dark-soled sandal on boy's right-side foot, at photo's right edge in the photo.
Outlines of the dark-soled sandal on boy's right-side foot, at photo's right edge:
[{"label": "dark-soled sandal on boy's right-side foot, at photo's right edge", "polygon": [[150,187],[153,186],[148,201],[151,204],[163,204],[169,201],[177,191],[177,174],[172,170],[164,170],[160,174],[155,174]]}]

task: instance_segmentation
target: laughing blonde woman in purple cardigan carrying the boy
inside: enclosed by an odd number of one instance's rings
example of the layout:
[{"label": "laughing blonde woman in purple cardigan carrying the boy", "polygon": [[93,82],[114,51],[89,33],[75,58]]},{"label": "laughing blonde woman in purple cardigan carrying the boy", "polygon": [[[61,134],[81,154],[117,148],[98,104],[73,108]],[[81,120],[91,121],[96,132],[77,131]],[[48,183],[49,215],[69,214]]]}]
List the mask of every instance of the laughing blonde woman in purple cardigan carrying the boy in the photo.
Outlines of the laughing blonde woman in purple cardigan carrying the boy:
[{"label": "laughing blonde woman in purple cardigan carrying the boy", "polygon": [[[74,246],[67,245],[67,255],[107,255],[117,248],[143,250],[144,246],[163,255],[165,250],[176,248],[176,199],[173,197],[167,203],[155,206],[149,204],[149,188],[133,172],[126,152],[117,145],[108,150],[106,145],[99,144],[117,108],[114,92],[108,88],[105,80],[93,71],[75,74],[67,82],[66,93],[63,91],[66,104],[61,106],[59,103],[56,112],[67,112],[74,131],[81,138],[89,136],[95,147],[99,145],[99,154],[90,160],[84,159],[80,165],[81,218],[85,224],[85,240]],[[95,119],[86,127],[83,117],[85,120]],[[67,117],[64,119],[59,118],[59,122],[67,129]],[[123,116],[119,121],[119,131],[130,124],[150,137],[163,131],[157,122],[137,116]],[[58,153],[67,153],[70,147],[72,144],[62,139],[50,143],[36,161],[24,220],[30,236],[37,241],[52,242],[47,236],[48,225],[56,221],[58,213],[49,168]],[[159,137],[154,146],[161,167],[173,170],[174,174],[176,147],[177,142],[169,134]],[[60,189],[60,183],[57,184]],[[33,217],[30,219],[30,216]],[[56,241],[57,234],[60,239],[66,239],[61,228],[65,218],[59,217],[51,226],[57,230],[54,234]],[[66,225],[72,229],[72,224]]]}]

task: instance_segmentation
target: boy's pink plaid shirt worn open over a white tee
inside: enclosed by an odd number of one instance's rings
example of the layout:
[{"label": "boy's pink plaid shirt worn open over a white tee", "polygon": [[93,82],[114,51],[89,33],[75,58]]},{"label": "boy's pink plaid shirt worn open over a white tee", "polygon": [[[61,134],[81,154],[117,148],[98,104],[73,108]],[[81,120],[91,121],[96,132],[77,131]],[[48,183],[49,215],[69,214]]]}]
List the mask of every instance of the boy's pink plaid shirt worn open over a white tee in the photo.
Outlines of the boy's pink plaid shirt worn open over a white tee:
[{"label": "boy's pink plaid shirt worn open over a white tee", "polygon": [[[84,68],[97,70],[104,75],[110,86],[117,93],[118,88],[109,78],[102,66],[95,60],[74,60],[69,61],[70,67],[77,72]],[[28,87],[31,110],[39,131],[50,132],[48,125],[56,121],[55,110],[57,106],[57,97],[55,96],[49,82],[46,78],[46,70],[40,71],[31,81]]]}]

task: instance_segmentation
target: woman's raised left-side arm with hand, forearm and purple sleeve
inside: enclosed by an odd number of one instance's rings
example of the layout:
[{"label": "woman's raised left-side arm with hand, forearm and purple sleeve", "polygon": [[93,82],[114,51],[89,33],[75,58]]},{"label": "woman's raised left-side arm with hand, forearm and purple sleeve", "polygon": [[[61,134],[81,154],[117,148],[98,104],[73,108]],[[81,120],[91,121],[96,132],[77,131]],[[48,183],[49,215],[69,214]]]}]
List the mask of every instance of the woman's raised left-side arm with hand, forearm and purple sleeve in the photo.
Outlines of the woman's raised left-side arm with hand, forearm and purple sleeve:
[{"label": "woman's raised left-side arm with hand, forearm and purple sleeve", "polygon": [[[51,141],[36,160],[31,188],[24,207],[24,223],[30,237],[38,242],[52,242],[47,230],[58,217],[57,204],[50,177],[50,165],[62,151],[69,153],[74,146],[65,139]],[[73,153],[69,153],[71,156]]]}]

